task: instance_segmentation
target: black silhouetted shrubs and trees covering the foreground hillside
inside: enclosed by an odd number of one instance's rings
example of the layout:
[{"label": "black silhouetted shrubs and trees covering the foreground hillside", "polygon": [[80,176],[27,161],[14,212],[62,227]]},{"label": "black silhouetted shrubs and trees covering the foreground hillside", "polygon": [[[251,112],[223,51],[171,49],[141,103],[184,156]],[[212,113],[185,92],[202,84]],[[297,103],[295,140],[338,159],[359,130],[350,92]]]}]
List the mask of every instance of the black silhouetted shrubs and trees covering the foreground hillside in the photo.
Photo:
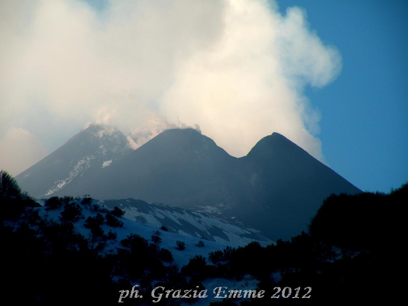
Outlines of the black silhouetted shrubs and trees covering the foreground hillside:
[{"label": "black silhouetted shrubs and trees covering the foreground hillside", "polygon": [[[274,294],[279,301],[297,292],[299,298],[307,297],[307,287],[314,301],[368,300],[377,295],[378,286],[393,279],[402,262],[398,246],[408,184],[389,194],[331,195],[308,233],[266,247],[251,242],[208,256],[197,251],[182,267],[173,259],[174,252],[183,252],[179,244],[177,250],[161,246],[165,229],[147,239],[139,233],[118,239],[125,221],[120,208],[94,205],[89,196],[52,197],[40,207],[5,171],[0,188],[4,302],[107,305],[118,302],[120,290],[139,284],[147,294],[124,299],[125,304],[178,305],[186,301],[153,303],[149,293],[156,286],[202,290],[209,279],[239,282],[248,275],[257,279],[257,290],[266,291],[264,298],[231,297],[212,304],[270,305]],[[275,287],[290,287],[291,293],[286,289],[282,297]],[[206,289],[212,293],[213,288]],[[18,298],[16,290],[22,290]]]}]

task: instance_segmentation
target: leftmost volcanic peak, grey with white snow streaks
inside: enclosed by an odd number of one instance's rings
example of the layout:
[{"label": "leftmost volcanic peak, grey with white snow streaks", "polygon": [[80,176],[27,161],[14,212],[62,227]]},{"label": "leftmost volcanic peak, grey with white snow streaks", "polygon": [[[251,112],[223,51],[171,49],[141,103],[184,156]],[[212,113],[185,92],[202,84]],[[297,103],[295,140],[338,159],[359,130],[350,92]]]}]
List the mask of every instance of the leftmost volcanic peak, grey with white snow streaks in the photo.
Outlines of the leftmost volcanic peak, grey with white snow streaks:
[{"label": "leftmost volcanic peak, grey with white snow streaks", "polygon": [[[111,126],[92,123],[59,149],[16,176],[23,190],[36,198],[50,197],[61,189],[78,190],[78,177],[100,175],[130,153],[126,137]],[[69,186],[69,188],[67,188]],[[84,195],[85,193],[74,193]]]}]

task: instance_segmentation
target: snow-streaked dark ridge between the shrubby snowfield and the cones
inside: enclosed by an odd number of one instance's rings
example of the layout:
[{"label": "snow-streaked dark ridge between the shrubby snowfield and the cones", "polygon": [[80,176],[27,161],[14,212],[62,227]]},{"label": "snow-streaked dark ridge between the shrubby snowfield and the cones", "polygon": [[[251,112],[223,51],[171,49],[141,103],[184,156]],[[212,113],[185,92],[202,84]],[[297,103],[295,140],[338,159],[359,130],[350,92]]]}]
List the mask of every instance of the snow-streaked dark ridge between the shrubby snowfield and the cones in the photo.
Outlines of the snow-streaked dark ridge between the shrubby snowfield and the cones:
[{"label": "snow-streaked dark ridge between the shrubby snowfield and the cones", "polygon": [[104,200],[99,201],[106,208],[118,206],[126,213],[124,217],[160,228],[166,227],[182,236],[200,238],[203,241],[216,241],[228,245],[245,246],[253,240],[266,245],[273,243],[263,237],[259,231],[231,224],[204,213],[198,213],[164,204],[147,203],[141,200]]}]

